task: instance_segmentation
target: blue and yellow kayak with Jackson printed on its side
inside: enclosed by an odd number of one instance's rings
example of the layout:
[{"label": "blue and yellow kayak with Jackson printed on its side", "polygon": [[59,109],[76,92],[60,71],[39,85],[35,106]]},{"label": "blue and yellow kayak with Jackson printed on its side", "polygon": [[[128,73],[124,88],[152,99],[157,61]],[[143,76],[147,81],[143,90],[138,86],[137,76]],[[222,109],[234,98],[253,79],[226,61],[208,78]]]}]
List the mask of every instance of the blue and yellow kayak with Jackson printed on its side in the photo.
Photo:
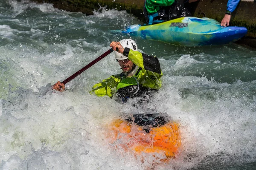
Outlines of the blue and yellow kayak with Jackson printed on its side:
[{"label": "blue and yellow kayak with Jackson printed on its side", "polygon": [[132,25],[124,34],[181,46],[224,45],[247,34],[245,27],[222,27],[209,18],[181,17],[154,25]]}]

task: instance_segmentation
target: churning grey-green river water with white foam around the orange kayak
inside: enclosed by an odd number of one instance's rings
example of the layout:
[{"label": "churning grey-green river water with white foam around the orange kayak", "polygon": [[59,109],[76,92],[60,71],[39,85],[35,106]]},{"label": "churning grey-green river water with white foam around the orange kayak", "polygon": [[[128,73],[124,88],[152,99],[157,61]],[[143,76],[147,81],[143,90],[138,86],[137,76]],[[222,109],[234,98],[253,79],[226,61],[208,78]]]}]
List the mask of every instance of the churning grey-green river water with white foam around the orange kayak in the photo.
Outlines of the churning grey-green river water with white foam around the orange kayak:
[{"label": "churning grey-green river water with white foam around the orange kayak", "polygon": [[[112,31],[129,24],[140,21],[126,11],[86,16],[0,0],[0,169],[256,168],[256,51],[236,44],[178,47]],[[130,37],[139,51],[159,58],[163,71],[162,88],[143,108],[90,94],[121,72],[113,54],[68,83],[71,90],[41,93],[108,51],[111,41]],[[180,125],[182,147],[169,162],[142,161],[106,140],[108,122],[147,109]]]}]

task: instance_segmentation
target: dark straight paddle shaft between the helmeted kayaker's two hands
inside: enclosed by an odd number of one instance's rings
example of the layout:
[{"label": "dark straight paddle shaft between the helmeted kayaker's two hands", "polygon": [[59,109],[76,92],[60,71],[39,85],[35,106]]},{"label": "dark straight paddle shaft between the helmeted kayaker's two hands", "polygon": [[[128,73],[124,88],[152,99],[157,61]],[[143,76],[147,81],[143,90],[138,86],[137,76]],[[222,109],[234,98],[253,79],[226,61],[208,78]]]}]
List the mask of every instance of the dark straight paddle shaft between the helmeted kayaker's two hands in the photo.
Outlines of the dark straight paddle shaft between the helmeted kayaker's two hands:
[{"label": "dark straight paddle shaft between the helmeted kayaker's two hands", "polygon": [[106,51],[104,54],[102,54],[101,56],[99,56],[98,58],[94,59],[92,62],[90,62],[89,64],[85,65],[83,68],[81,68],[81,70],[77,71],[75,74],[73,74],[72,76],[70,76],[69,78],[65,79],[62,83],[66,84],[67,82],[70,82],[71,80],[73,80],[74,78],[76,78],[78,75],[80,75],[82,72],[84,72],[85,70],[87,70],[88,68],[90,68],[92,65],[94,65],[96,62],[98,62],[99,60],[103,59],[104,57],[106,57],[108,54],[112,53],[113,49],[109,49],[108,51]]}]

